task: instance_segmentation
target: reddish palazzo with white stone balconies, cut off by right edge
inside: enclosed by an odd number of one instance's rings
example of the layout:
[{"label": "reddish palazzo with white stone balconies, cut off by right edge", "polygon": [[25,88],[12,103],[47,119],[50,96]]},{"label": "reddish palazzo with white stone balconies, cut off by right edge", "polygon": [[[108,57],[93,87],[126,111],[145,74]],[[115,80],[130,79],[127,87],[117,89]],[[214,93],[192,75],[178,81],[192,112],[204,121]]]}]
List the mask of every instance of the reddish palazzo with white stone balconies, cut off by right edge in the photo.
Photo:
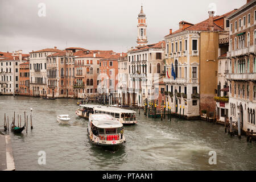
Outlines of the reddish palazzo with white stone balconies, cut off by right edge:
[{"label": "reddish palazzo with white stone balconies, cut off by right edge", "polygon": [[256,131],[256,1],[247,3],[228,16],[229,32],[229,120],[241,129]]}]

